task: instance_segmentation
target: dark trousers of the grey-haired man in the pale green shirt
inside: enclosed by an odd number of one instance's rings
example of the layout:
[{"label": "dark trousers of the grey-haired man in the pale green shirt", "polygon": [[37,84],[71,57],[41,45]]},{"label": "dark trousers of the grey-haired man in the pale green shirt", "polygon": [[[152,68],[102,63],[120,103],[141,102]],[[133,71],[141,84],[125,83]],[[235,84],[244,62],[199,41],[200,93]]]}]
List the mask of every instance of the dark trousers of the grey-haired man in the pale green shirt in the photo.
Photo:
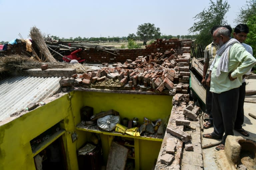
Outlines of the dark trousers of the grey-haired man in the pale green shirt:
[{"label": "dark trousers of the grey-haired man in the pale green shirt", "polygon": [[226,92],[212,93],[212,116],[214,119],[214,133],[223,136],[221,141],[225,145],[228,135],[234,135],[233,129],[237,114],[239,87]]}]

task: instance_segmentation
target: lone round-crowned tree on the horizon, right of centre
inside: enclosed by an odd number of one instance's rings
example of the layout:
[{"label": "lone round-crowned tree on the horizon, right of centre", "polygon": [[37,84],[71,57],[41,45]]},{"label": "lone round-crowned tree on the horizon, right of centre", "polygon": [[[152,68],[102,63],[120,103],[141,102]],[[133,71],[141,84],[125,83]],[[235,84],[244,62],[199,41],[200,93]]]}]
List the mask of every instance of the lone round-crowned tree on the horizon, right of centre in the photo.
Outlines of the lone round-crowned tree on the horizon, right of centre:
[{"label": "lone round-crowned tree on the horizon, right of centre", "polygon": [[161,33],[160,28],[156,28],[155,24],[145,23],[138,26],[137,35],[143,41],[143,45],[146,45],[148,40],[159,38]]}]

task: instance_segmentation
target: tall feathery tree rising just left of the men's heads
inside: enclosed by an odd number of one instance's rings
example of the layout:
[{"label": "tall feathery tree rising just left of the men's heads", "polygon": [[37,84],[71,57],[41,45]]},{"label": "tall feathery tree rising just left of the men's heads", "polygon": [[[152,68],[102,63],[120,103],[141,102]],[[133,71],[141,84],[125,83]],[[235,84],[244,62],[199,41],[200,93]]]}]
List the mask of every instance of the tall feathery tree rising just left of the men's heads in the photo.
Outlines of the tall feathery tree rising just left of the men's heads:
[{"label": "tall feathery tree rising just left of the men's heads", "polygon": [[195,17],[195,20],[199,20],[189,28],[190,33],[199,32],[196,43],[201,44],[203,47],[212,42],[212,35],[210,34],[213,26],[228,25],[226,21],[226,13],[228,12],[230,5],[225,0],[217,0],[216,3],[210,0],[210,6],[207,10],[203,10]]}]

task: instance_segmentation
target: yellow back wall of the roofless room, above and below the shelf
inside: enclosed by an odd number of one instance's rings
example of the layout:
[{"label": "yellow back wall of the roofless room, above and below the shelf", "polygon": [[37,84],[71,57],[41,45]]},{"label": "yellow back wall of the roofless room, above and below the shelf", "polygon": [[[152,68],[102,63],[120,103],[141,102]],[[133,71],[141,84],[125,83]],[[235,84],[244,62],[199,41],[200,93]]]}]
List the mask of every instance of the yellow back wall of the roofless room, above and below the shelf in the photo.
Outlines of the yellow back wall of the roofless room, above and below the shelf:
[{"label": "yellow back wall of the roofless room, above and below the shelf", "polygon": [[[117,94],[100,92],[81,92],[85,106],[93,107],[94,114],[113,109],[119,112],[121,120],[127,117],[131,120],[139,118],[139,125],[143,124],[144,117],[154,121],[168,117],[172,110],[172,96]],[[90,134],[85,132],[87,136]],[[110,136],[100,134],[103,149],[104,163],[107,163]],[[88,138],[88,140],[90,140]],[[139,140],[140,169],[151,169],[157,159],[162,142]]]}]

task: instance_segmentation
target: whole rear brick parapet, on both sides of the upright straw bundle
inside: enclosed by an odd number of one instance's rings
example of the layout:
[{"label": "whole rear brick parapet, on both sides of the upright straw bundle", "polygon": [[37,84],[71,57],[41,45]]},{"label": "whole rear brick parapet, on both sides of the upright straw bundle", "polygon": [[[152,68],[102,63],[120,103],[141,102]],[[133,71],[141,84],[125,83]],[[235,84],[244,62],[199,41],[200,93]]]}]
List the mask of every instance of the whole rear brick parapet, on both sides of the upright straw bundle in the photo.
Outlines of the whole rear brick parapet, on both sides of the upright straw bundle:
[{"label": "whole rear brick parapet, on both sides of the upright straw bundle", "polygon": [[[21,42],[19,39],[16,39],[17,44],[8,44],[7,50],[1,50],[0,56],[11,55],[11,54],[26,54],[26,43]],[[150,56],[151,53],[164,53],[171,49],[174,49],[177,54],[182,55],[183,53],[190,53],[191,51],[191,40],[178,40],[178,39],[158,39],[153,42],[151,45],[146,45],[146,48],[139,49],[117,49],[118,51],[113,51],[114,54],[95,50],[94,48],[85,49],[77,53],[78,57],[86,59],[87,63],[116,63],[116,62],[125,62],[127,59],[136,60],[138,56]],[[34,43],[32,44],[34,46]],[[34,47],[37,51],[37,49]],[[26,52],[25,52],[26,51]],[[65,51],[65,55],[69,55],[70,52]],[[31,54],[32,55],[32,54]],[[57,57],[56,59],[61,59]]]}]

